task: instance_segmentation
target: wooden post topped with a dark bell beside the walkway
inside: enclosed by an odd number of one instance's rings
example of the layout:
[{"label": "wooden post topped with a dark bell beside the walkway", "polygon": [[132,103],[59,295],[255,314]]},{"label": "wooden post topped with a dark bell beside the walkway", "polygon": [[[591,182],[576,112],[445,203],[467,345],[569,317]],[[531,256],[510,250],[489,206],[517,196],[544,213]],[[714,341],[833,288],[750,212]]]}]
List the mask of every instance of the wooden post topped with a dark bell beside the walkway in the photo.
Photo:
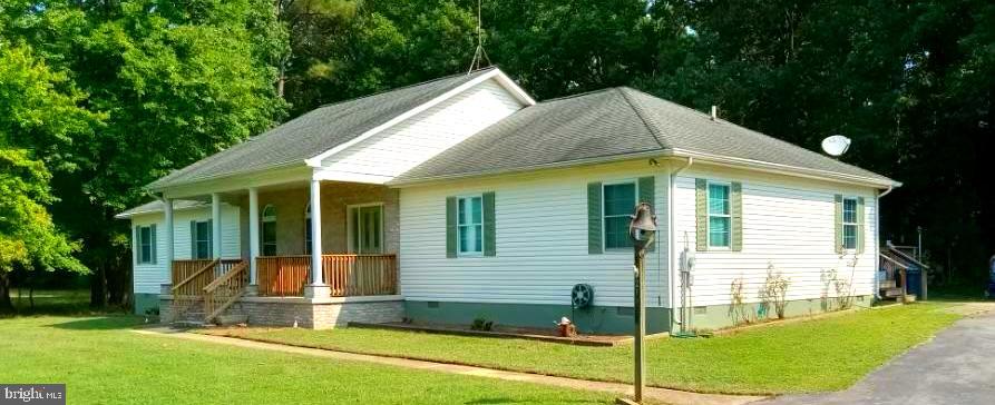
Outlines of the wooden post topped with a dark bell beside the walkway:
[{"label": "wooden post topped with a dark bell beside the walkway", "polygon": [[645,257],[646,248],[653,244],[656,237],[656,216],[653,215],[653,207],[648,202],[640,202],[636,206],[635,214],[632,215],[632,221],[628,224],[628,237],[633,243],[633,275],[635,276],[635,289],[633,294],[633,306],[635,307],[635,336],[633,338],[635,346],[635,378],[634,378],[634,396],[633,399],[637,404],[643,403],[643,381],[646,374],[646,354],[643,350],[644,339],[646,336],[646,277],[645,277]]}]

